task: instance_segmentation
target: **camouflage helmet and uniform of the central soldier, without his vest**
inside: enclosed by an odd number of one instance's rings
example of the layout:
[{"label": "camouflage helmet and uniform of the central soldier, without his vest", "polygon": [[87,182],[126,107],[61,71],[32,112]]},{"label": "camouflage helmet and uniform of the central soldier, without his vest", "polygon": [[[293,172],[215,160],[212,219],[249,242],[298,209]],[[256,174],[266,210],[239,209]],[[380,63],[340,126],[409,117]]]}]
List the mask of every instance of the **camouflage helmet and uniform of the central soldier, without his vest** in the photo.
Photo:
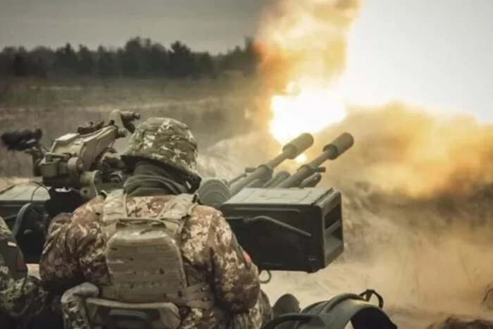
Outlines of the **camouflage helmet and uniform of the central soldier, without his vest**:
[{"label": "camouflage helmet and uniform of the central soldier, without his vest", "polygon": [[[151,118],[139,125],[129,144],[122,155],[127,163],[138,157],[161,161],[189,178],[198,178],[196,142],[182,123]],[[127,194],[128,216],[157,216],[173,197],[163,192],[135,197]],[[63,297],[65,318],[73,328],[84,328],[77,316],[77,300],[81,292],[86,294],[92,288],[83,284],[111,285],[104,255],[108,237],[101,223],[103,206],[104,197],[100,196],[76,209],[70,220],[55,218],[39,263],[46,288],[67,290]],[[195,206],[181,230],[179,245],[189,284],[206,280],[216,299],[211,309],[180,308],[180,328],[261,328],[262,321],[272,318],[268,299],[261,294],[258,269],[239,247],[219,211]]]}]

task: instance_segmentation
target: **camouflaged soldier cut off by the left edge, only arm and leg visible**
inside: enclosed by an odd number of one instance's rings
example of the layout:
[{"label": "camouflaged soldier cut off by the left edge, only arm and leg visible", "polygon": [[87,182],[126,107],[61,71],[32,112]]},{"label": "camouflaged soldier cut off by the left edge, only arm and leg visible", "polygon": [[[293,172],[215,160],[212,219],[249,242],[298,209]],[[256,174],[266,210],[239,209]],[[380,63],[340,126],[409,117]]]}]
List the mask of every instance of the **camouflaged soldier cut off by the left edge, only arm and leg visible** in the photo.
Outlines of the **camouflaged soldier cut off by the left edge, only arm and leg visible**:
[{"label": "camouflaged soldier cut off by the left edge, only arm and leg visible", "polygon": [[12,232],[0,217],[0,328],[60,328],[60,297],[26,273]]}]

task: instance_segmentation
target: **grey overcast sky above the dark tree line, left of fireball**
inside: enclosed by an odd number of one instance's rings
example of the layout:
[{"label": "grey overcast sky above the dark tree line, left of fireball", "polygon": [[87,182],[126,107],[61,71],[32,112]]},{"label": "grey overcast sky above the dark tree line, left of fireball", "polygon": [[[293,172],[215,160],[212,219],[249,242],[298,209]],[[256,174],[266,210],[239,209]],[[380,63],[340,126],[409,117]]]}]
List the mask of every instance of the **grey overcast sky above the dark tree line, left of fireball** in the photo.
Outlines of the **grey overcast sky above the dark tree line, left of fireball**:
[{"label": "grey overcast sky above the dark tree line, left of fireball", "polygon": [[263,0],[0,0],[0,45],[122,46],[137,35],[225,51],[254,35]]}]

